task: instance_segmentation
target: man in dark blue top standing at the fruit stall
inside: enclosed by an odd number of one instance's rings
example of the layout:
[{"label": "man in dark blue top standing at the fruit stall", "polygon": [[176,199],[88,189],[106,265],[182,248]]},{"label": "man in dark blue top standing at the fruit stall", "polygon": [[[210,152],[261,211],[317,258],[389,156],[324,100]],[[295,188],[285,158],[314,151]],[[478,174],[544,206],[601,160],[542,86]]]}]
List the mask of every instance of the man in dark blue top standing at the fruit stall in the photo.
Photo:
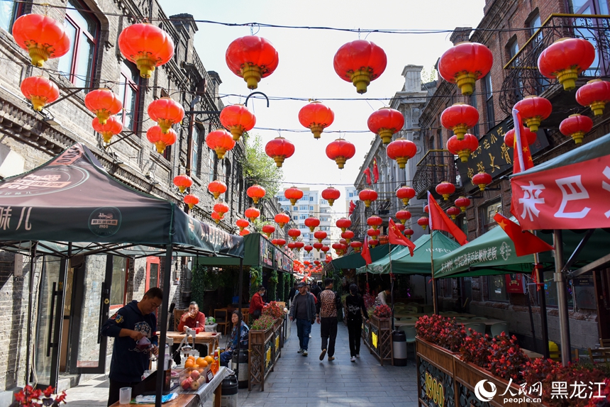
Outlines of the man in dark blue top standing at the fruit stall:
[{"label": "man in dark blue top standing at the fruit stall", "polygon": [[[116,338],[110,362],[110,389],[108,405],[118,401],[121,387],[133,387],[142,381],[148,369],[150,352],[157,355],[157,317],[155,310],[161,306],[163,290],[149,289],[142,301],[131,301],[114,313],[101,327],[101,334]],[[136,342],[148,338],[152,347],[138,349]]]}]

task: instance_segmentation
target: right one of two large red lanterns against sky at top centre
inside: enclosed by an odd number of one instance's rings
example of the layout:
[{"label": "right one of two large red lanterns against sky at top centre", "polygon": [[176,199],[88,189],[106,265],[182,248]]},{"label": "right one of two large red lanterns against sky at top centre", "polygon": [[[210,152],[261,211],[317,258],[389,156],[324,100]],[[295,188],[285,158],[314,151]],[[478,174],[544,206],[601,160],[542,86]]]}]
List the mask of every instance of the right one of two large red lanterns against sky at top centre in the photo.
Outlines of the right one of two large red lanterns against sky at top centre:
[{"label": "right one of two large red lanterns against sky at top centre", "polygon": [[346,82],[352,82],[359,94],[385,70],[384,50],[366,40],[355,40],[341,46],[335,54],[335,72]]}]

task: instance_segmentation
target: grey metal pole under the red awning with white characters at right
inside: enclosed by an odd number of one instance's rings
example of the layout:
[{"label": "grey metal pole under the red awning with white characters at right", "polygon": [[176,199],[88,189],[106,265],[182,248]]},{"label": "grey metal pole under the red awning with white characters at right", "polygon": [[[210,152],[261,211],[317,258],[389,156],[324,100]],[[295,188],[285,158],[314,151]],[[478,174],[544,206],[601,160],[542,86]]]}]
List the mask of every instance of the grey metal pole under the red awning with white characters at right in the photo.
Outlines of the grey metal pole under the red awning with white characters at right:
[{"label": "grey metal pole under the red awning with white characters at right", "polygon": [[553,230],[553,246],[555,246],[555,274],[557,283],[557,308],[559,310],[559,330],[561,335],[561,362],[564,366],[570,363],[570,320],[567,315],[567,297],[565,295],[565,276],[563,268],[563,239],[561,230]]}]

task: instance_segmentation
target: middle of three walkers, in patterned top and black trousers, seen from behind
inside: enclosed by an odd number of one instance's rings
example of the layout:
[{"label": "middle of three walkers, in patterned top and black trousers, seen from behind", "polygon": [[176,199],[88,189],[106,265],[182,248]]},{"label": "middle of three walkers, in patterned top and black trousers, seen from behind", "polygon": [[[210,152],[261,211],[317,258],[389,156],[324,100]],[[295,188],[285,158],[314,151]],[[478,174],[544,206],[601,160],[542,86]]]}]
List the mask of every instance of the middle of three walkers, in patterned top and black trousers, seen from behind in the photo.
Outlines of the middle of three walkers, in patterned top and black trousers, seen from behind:
[{"label": "middle of three walkers, in patterned top and black trousers, seen from behind", "polygon": [[337,339],[337,310],[341,306],[340,296],[333,291],[333,279],[324,279],[326,289],[318,294],[318,303],[316,305],[316,318],[320,325],[320,336],[322,338],[322,353],[320,360],[324,360],[324,356],[328,351],[328,360],[334,360],[335,357],[335,341]]}]

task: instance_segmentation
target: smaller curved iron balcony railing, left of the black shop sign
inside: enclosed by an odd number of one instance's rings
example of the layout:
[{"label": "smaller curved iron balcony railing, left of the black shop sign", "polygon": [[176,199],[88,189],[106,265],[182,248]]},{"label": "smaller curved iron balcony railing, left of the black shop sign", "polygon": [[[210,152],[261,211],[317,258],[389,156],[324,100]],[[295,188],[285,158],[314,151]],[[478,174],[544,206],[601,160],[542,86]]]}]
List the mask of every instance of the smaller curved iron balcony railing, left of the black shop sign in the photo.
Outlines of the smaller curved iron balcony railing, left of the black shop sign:
[{"label": "smaller curved iron balcony railing, left of the black shop sign", "polygon": [[455,155],[447,150],[428,150],[417,163],[417,171],[413,177],[413,187],[418,199],[426,195],[426,191],[434,191],[443,181],[455,184],[457,169]]}]

